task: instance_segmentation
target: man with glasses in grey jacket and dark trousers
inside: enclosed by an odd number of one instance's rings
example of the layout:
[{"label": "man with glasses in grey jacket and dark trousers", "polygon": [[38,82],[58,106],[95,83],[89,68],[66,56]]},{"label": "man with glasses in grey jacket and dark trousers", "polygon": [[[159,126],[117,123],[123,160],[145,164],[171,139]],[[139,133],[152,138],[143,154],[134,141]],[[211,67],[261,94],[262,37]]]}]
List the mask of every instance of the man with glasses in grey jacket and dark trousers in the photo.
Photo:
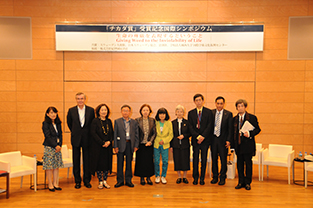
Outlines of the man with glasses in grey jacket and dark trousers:
[{"label": "man with glasses in grey jacket and dark trousers", "polygon": [[115,188],[124,185],[124,155],[126,155],[125,184],[134,187],[131,179],[133,153],[138,150],[139,133],[138,122],[131,119],[131,107],[121,107],[122,118],[114,121],[114,150],[117,153],[117,183]]}]

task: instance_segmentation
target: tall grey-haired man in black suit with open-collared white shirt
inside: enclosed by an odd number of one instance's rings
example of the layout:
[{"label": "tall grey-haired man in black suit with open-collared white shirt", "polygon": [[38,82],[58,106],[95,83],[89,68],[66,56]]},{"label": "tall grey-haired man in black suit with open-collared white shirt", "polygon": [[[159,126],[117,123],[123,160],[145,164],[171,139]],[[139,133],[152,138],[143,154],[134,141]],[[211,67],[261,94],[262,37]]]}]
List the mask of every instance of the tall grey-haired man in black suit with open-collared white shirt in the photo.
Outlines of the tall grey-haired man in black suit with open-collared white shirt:
[{"label": "tall grey-haired man in black suit with open-collared white shirt", "polygon": [[73,173],[75,177],[75,188],[81,187],[80,158],[81,148],[83,149],[83,182],[87,188],[91,188],[91,173],[89,170],[89,129],[92,120],[95,118],[95,111],[92,107],[85,105],[86,95],[78,92],[75,96],[77,106],[68,110],[67,126],[71,131],[71,143],[73,148]]}]

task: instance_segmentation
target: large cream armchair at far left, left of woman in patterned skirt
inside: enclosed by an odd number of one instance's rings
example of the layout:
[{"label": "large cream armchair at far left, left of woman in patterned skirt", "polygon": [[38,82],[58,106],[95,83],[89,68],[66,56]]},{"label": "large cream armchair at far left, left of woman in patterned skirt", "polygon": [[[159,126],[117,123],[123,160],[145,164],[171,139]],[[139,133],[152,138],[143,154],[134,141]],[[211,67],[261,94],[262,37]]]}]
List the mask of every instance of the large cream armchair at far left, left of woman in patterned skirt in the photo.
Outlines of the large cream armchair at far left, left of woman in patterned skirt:
[{"label": "large cream armchair at far left, left of woman in patterned skirt", "polygon": [[21,187],[23,185],[23,176],[34,175],[34,190],[37,191],[37,161],[35,158],[24,156],[20,151],[1,153],[0,170],[8,172],[10,178],[21,176]]}]

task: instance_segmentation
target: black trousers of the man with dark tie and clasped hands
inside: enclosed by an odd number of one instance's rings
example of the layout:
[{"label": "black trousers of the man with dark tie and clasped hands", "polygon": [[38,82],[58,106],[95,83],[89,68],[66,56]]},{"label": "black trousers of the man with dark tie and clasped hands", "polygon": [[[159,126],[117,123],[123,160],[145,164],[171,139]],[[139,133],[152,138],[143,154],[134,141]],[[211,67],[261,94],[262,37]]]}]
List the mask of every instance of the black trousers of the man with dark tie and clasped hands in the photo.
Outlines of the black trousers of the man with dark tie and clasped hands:
[{"label": "black trousers of the man with dark tie and clasped hands", "polygon": [[204,180],[205,178],[205,171],[206,171],[206,164],[208,160],[208,145],[193,145],[192,150],[193,150],[193,171],[192,171],[192,177],[194,180],[199,179],[199,154],[201,154],[201,175],[200,175],[200,180]]}]

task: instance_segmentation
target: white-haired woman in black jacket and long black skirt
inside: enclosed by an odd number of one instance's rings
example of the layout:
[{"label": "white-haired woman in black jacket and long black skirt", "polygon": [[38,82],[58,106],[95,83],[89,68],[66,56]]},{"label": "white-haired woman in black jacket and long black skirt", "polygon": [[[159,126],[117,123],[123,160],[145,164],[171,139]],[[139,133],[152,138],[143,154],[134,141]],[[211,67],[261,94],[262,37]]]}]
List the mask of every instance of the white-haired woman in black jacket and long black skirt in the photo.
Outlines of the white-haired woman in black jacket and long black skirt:
[{"label": "white-haired woman in black jacket and long black skirt", "polygon": [[[172,121],[174,138],[171,141],[173,151],[174,170],[177,171],[176,183],[188,183],[187,171],[190,170],[190,142],[189,123],[184,119],[185,108],[178,105],[175,109],[177,118]],[[183,171],[183,178],[181,172]]]}]

